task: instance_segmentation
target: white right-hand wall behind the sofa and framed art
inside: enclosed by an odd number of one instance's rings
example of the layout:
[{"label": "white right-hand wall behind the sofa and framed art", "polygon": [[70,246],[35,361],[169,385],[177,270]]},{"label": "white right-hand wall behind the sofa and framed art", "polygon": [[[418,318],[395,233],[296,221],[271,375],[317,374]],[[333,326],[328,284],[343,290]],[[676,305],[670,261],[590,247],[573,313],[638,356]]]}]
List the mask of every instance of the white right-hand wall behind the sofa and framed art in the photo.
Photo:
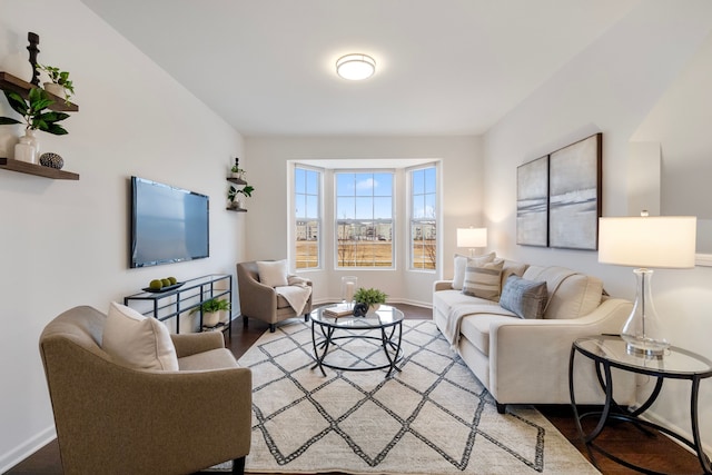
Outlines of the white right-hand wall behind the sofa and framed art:
[{"label": "white right-hand wall behind the sofa and framed art", "polygon": [[[596,253],[515,244],[516,167],[601,131],[603,215],[626,215],[629,141],[686,65],[695,60],[710,65],[709,48],[701,47],[711,30],[712,2],[640,2],[485,135],[485,215],[497,251],[523,261],[591,273],[603,278],[612,295],[634,298],[631,269],[599,265]],[[712,97],[710,88],[702,85],[690,93],[705,103]],[[709,128],[708,122],[688,121],[684,116],[678,116],[675,122]],[[663,149],[664,139],[662,135],[636,137],[662,141]],[[708,146],[708,159],[711,151]],[[712,358],[712,318],[708,311],[712,306],[712,269],[656,270],[653,286],[657,310],[665,316],[673,344]],[[668,382],[653,415],[689,432],[689,384]],[[712,380],[702,384],[700,409],[703,442],[710,447]]]}]

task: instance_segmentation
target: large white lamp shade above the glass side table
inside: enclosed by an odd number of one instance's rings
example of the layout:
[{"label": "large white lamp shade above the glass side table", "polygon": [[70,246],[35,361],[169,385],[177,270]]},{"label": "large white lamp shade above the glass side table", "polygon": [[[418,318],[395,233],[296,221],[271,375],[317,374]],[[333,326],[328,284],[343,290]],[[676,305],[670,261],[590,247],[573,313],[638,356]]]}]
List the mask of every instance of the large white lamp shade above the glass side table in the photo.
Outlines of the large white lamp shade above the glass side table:
[{"label": "large white lamp shade above the glass side table", "polygon": [[599,263],[683,269],[694,267],[698,218],[646,216],[599,219]]}]

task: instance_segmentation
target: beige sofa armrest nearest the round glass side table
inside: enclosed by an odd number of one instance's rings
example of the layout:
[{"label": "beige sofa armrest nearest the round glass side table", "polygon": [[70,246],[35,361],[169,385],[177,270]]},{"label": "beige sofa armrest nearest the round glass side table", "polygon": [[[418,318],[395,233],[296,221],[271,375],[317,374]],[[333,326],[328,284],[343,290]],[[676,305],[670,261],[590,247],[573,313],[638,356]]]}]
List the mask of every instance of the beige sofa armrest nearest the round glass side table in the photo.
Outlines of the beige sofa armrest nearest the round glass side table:
[{"label": "beige sofa armrest nearest the round glass side table", "polygon": [[[591,314],[574,319],[503,319],[490,327],[491,393],[502,404],[521,403],[522,394],[546,394],[548,400],[568,402],[568,357],[576,338],[620,333],[631,313],[632,303],[620,298],[605,299]],[[535,358],[540,370],[524,360]],[[582,372],[581,385],[590,393],[597,390],[595,376]],[[580,384],[577,383],[577,386]],[[623,388],[626,389],[626,388]],[[619,403],[626,404],[633,394],[624,390]],[[602,394],[602,393],[601,393]],[[525,396],[526,398],[526,396]],[[582,402],[585,403],[585,402]]]}]

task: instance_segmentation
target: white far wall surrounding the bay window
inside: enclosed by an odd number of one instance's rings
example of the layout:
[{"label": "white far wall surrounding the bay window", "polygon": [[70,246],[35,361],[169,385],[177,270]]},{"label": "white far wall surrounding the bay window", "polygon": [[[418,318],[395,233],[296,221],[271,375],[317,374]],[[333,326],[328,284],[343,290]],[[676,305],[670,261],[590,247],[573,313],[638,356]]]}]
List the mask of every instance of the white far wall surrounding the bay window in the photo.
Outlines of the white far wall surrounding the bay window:
[{"label": "white far wall surrounding the bay window", "polygon": [[[443,275],[452,277],[455,229],[481,225],[482,160],[481,141],[475,137],[360,137],[360,138],[271,138],[246,139],[249,182],[256,191],[249,199],[247,217],[247,257],[279,259],[287,257],[287,161],[340,159],[421,159],[442,160],[441,207],[443,222]],[[399,189],[403,189],[402,186]],[[403,227],[404,216],[396,226]],[[403,249],[403,246],[400,246]],[[432,283],[437,275],[407,273],[405,254],[396,270],[348,273],[305,273],[314,280],[314,299],[338,297],[340,276],[355,274],[359,286],[382,288],[394,301],[429,304]],[[328,267],[327,267],[328,268]]]}]

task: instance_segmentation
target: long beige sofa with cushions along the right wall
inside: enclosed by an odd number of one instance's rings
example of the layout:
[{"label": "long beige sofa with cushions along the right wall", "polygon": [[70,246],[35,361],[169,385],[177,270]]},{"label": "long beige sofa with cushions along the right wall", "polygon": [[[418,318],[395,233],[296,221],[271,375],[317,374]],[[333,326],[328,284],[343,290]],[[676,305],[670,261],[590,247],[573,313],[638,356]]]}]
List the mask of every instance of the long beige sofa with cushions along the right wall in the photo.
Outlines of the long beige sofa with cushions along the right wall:
[{"label": "long beige sofa with cushions along the right wall", "polygon": [[[434,284],[433,319],[444,335],[454,335],[453,349],[492,394],[500,413],[507,404],[570,404],[572,343],[583,336],[620,333],[632,304],[605,296],[600,279],[563,267],[505,260],[502,287],[510,275],[546,281],[543,318],[520,318],[502,308],[496,298],[465,295],[453,288],[453,280],[438,280]],[[582,359],[576,359],[574,375],[576,402],[602,404],[604,393],[595,367]],[[614,382],[619,404],[633,403],[633,382],[617,375]]]}]

